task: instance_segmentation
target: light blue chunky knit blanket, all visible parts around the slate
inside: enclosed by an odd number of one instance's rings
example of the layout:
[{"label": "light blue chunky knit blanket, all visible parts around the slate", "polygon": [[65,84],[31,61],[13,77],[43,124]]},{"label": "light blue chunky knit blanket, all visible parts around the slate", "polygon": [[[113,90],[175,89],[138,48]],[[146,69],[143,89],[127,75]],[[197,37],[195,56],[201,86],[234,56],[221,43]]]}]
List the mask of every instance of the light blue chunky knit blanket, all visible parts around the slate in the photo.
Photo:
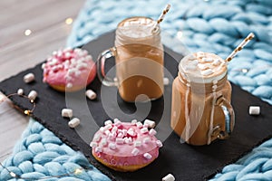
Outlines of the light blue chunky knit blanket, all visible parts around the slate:
[{"label": "light blue chunky knit blanket, all visible parts around the slate", "polygon": [[[170,0],[161,29],[170,35],[164,43],[173,51],[215,52],[226,58],[250,32],[256,38],[228,65],[228,79],[272,104],[272,1],[271,0]],[[115,29],[122,19],[145,15],[156,19],[166,2],[156,0],[87,0],[68,38],[79,46]],[[177,41],[178,40],[178,41]],[[83,175],[47,180],[109,180],[92,167],[81,153],[31,120],[14,154],[5,160],[16,175],[53,176],[87,167]],[[0,167],[0,180],[11,176]],[[224,167],[211,180],[272,180],[272,139],[254,148],[237,163]]]}]

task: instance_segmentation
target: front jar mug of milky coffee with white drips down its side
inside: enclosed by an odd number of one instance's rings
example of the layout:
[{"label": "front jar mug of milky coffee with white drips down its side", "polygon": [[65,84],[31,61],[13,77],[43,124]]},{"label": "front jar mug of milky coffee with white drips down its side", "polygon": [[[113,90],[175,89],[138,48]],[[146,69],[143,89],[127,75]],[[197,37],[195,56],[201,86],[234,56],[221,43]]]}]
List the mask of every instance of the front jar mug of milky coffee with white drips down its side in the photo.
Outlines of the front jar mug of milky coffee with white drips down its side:
[{"label": "front jar mug of milky coffee with white drips down its side", "polygon": [[171,128],[191,145],[228,138],[234,127],[230,98],[227,63],[209,52],[189,54],[173,81]]}]

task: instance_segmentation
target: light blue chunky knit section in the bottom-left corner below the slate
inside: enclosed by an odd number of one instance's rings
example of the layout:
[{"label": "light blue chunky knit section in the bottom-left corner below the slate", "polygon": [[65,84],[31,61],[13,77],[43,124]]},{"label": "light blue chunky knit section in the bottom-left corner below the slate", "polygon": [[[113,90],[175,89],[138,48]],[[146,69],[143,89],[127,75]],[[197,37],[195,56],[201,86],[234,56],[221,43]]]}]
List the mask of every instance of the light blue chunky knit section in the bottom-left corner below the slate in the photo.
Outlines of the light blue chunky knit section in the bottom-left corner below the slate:
[{"label": "light blue chunky knit section in the bottom-left corner below the slate", "polygon": [[[39,180],[45,176],[61,176],[43,179],[46,181],[110,180],[92,167],[82,153],[69,148],[34,119],[30,119],[22,140],[15,145],[12,157],[7,158],[3,165],[16,176],[28,178],[18,179],[21,181]],[[83,169],[83,172],[75,174],[77,168]],[[15,178],[12,178],[6,169],[0,167],[0,180],[15,180]]]}]

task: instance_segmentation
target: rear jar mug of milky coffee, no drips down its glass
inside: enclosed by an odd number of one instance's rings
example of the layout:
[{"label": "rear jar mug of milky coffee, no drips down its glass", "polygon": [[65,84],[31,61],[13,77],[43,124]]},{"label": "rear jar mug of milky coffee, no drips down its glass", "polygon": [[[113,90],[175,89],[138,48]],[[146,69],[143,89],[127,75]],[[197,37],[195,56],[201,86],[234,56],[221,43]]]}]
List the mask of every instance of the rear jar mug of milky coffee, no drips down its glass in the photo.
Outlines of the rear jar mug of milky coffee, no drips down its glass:
[{"label": "rear jar mug of milky coffee, no drips down its glass", "polygon": [[[114,85],[118,86],[122,100],[156,100],[163,94],[163,47],[160,28],[152,31],[154,24],[147,17],[131,17],[118,24],[115,46],[110,52],[116,63]],[[102,83],[111,85],[105,79]],[[142,94],[146,96],[141,97]]]}]

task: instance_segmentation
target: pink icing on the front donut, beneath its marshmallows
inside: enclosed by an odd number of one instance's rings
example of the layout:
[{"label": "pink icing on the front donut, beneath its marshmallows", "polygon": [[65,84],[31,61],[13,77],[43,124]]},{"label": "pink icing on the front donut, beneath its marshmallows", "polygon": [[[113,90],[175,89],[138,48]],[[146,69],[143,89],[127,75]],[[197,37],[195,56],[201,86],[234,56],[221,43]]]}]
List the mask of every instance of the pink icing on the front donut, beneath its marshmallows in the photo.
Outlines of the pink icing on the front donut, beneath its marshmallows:
[{"label": "pink icing on the front donut, beneath its marshmallows", "polygon": [[[150,135],[149,132],[141,132],[141,129],[137,127],[137,125],[130,122],[121,122],[121,124],[120,122],[116,122],[112,124],[111,129],[105,130],[105,127],[99,129],[92,140],[92,142],[97,143],[98,147],[102,148],[102,151],[96,152],[95,148],[92,148],[92,154],[96,157],[100,157],[106,163],[111,165],[114,163],[114,165],[118,166],[145,165],[159,156],[159,146],[161,146],[158,144],[159,140],[154,135]],[[114,127],[118,129],[113,129]],[[107,130],[111,131],[111,134],[107,135],[107,133],[109,133]],[[112,134],[112,130],[116,132],[116,134]],[[122,137],[118,137],[118,135],[121,135],[118,133],[123,132],[127,132],[126,135],[122,134]],[[133,134],[133,132],[135,134]],[[115,137],[112,138],[112,135],[115,135]],[[107,140],[106,145],[102,144],[103,138]],[[131,141],[124,141],[120,144],[120,138],[130,139]],[[146,140],[146,138],[149,138],[148,142],[143,141]],[[140,146],[139,143],[141,143]],[[114,144],[116,148],[112,148],[112,144]],[[135,150],[133,151],[135,148],[139,149],[136,155]],[[151,154],[151,158],[144,157],[146,153]]]}]

